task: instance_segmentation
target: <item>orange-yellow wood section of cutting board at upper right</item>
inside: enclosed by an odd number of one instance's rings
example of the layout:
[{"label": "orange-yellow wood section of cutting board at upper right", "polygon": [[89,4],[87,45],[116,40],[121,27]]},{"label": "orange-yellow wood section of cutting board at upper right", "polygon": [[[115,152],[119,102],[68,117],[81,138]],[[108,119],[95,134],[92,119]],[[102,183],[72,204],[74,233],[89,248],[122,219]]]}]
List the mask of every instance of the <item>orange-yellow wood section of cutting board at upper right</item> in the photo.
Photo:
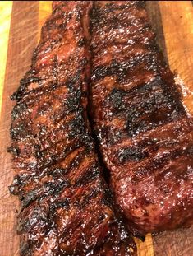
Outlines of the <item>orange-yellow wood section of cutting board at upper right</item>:
[{"label": "orange-yellow wood section of cutting board at upper right", "polygon": [[191,1],[159,1],[168,62],[189,89],[184,103],[193,114],[193,6]]}]

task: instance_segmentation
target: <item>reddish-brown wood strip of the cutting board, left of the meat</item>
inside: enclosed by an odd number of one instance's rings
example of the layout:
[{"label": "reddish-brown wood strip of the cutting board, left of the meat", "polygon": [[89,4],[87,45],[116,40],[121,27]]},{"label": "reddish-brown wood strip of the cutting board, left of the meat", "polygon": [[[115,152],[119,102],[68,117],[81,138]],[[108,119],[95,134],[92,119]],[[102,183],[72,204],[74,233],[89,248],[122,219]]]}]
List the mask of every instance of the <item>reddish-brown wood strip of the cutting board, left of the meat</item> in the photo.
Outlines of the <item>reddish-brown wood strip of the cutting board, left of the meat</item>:
[{"label": "reddish-brown wood strip of the cutting board, left of the meat", "polygon": [[9,127],[12,104],[10,95],[16,90],[21,77],[30,66],[30,58],[37,44],[39,2],[13,2],[10,38],[7,52],[7,68],[2,95],[2,115],[0,121],[0,255],[18,254],[18,236],[16,235],[16,208],[18,201],[11,197],[8,185],[13,178],[11,157],[7,154],[9,145]]}]

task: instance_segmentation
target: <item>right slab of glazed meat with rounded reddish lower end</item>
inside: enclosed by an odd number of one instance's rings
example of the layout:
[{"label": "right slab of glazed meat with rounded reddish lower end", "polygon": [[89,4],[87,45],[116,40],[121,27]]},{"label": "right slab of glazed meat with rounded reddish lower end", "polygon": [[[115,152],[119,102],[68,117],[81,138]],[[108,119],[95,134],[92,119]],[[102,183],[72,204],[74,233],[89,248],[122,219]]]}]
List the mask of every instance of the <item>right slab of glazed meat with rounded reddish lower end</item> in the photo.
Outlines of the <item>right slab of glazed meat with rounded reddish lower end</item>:
[{"label": "right slab of glazed meat with rounded reddish lower end", "polygon": [[142,1],[94,2],[91,118],[132,231],[193,222],[193,122]]}]

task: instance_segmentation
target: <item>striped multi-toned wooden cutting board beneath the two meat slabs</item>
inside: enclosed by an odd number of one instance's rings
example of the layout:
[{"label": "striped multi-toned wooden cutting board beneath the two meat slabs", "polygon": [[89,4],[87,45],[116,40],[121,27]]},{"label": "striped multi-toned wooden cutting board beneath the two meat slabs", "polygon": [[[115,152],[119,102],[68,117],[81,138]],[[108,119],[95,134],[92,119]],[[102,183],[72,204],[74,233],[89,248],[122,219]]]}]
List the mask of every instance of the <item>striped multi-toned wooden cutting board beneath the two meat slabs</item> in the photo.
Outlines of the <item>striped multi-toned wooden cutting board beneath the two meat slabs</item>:
[{"label": "striped multi-toned wooden cutting board beneath the two meat slabs", "polygon": [[[13,170],[7,154],[16,90],[39,40],[39,33],[51,12],[51,1],[0,2],[0,256],[18,256],[15,231],[17,198],[11,197]],[[149,15],[160,47],[172,68],[186,84],[184,103],[193,114],[193,7],[191,1],[148,1]],[[188,90],[187,90],[188,89]],[[192,256],[193,227],[147,235],[145,243],[136,240],[139,256]]]}]

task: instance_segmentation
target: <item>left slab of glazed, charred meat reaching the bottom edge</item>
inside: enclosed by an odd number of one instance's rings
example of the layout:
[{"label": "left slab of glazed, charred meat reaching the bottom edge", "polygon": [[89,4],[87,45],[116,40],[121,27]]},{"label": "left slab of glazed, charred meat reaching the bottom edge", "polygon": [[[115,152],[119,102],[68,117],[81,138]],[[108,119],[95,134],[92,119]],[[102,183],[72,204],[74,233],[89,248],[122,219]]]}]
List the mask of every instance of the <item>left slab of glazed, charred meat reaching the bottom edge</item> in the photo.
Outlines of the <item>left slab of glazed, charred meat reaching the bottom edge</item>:
[{"label": "left slab of glazed, charred meat reaching the bottom edge", "polygon": [[[136,255],[113,211],[85,108],[88,1],[54,2],[12,98],[11,147],[21,255]],[[118,218],[117,218],[118,215]]]}]

